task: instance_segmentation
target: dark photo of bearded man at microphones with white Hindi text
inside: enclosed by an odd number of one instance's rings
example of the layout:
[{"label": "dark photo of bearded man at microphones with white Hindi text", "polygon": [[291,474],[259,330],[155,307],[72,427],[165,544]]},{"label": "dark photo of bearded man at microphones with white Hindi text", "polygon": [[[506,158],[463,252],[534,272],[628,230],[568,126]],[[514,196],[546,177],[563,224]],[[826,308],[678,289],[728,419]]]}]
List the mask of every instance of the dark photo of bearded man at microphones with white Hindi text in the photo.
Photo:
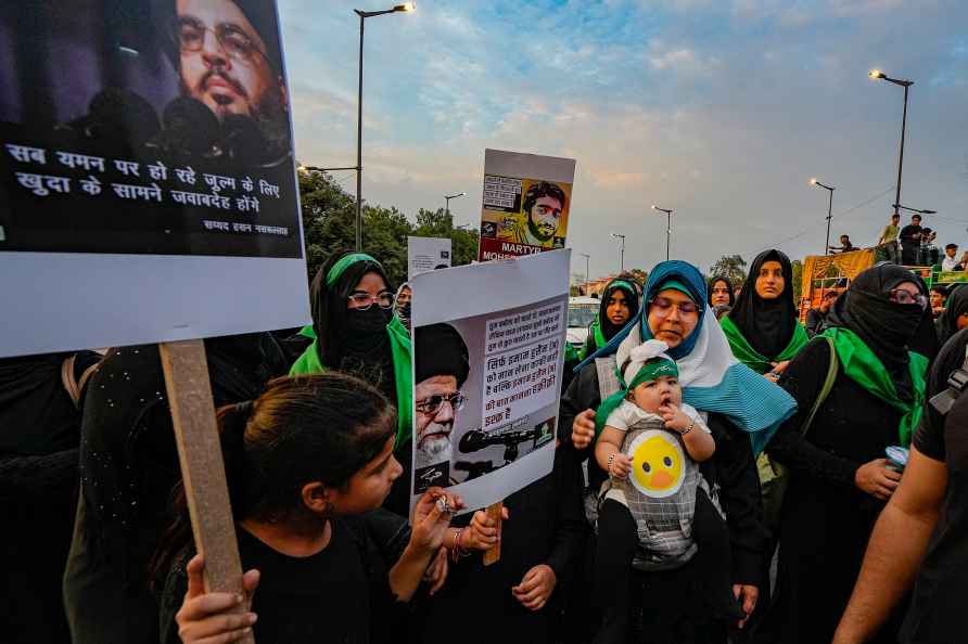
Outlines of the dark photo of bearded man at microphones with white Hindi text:
[{"label": "dark photo of bearded man at microphones with white Hindi text", "polygon": [[273,1],[16,4],[0,250],[302,256]]}]

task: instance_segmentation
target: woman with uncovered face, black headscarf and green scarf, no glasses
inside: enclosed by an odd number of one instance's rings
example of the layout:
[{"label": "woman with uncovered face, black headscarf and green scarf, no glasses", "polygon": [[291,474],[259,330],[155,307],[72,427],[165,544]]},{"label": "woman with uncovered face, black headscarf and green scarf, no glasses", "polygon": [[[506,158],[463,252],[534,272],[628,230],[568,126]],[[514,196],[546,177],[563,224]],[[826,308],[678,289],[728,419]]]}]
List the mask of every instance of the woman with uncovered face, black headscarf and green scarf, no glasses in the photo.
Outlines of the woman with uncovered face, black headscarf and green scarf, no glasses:
[{"label": "woman with uncovered face, black headscarf and green scarf, no glasses", "polygon": [[797,320],[793,268],[779,250],[764,250],[753,260],[733,310],[723,318],[736,359],[776,382],[810,337]]}]

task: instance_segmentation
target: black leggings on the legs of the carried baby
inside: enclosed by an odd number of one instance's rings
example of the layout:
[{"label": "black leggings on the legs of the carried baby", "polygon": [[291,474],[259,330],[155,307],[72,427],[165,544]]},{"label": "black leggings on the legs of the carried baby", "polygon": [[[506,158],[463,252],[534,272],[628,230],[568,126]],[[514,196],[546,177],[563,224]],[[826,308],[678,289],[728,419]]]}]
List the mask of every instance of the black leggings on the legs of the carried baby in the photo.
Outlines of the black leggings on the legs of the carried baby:
[{"label": "black leggings on the legs of the carried baby", "polygon": [[[706,606],[713,615],[742,619],[744,615],[733,595],[729,532],[703,489],[696,491],[692,539],[699,548],[692,561]],[[595,557],[595,596],[604,618],[595,644],[628,641],[632,562],[638,543],[638,528],[632,512],[617,501],[607,499],[598,515]]]}]

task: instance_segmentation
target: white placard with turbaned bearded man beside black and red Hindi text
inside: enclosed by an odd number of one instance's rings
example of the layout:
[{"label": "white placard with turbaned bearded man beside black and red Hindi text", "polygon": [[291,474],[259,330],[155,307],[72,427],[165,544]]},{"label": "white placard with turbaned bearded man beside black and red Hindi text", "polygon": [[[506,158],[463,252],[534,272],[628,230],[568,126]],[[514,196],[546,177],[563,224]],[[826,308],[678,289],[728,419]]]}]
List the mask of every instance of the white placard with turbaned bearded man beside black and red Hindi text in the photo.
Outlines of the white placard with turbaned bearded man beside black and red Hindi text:
[{"label": "white placard with turbaned bearded man beside black and red Hindi text", "polygon": [[570,254],[415,278],[415,502],[453,487],[475,510],[551,472]]}]

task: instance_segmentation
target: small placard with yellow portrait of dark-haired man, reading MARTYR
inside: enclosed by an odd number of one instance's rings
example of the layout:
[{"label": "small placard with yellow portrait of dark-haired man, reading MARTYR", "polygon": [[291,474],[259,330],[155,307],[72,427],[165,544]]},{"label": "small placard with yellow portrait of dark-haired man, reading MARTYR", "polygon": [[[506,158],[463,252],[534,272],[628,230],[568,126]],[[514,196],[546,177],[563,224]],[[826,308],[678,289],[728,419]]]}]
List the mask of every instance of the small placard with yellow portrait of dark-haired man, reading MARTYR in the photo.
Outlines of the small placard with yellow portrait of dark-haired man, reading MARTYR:
[{"label": "small placard with yellow portrait of dark-haired man, reading MARTYR", "polygon": [[484,151],[484,198],[477,260],[563,248],[575,160]]}]

